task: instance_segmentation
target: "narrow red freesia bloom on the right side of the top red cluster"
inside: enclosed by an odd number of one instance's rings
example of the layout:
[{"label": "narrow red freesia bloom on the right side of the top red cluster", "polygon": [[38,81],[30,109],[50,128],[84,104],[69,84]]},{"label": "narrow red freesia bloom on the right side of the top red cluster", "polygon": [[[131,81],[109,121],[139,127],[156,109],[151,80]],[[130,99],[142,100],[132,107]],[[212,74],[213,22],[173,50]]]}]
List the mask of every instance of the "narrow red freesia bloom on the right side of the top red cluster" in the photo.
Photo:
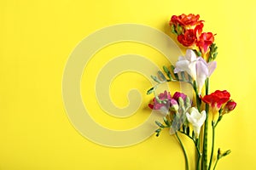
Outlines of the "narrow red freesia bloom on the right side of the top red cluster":
[{"label": "narrow red freesia bloom on the right side of the top red cluster", "polygon": [[202,55],[207,54],[212,42],[214,41],[214,36],[212,32],[203,32],[196,42],[196,45],[200,48]]}]

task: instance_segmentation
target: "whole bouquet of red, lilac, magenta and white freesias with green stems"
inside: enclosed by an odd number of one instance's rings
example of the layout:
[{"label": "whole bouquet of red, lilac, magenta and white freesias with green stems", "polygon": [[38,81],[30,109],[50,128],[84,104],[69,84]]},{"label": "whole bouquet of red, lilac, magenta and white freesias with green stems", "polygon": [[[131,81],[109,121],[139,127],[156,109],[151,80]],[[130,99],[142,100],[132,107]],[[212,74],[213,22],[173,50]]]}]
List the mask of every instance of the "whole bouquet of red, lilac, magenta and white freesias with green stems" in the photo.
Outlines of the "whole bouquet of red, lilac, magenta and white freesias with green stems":
[{"label": "whole bouquet of red, lilac, magenta and white freesias with green stems", "polygon": [[[187,48],[186,54],[180,56],[175,65],[163,66],[163,71],[158,71],[157,76],[152,76],[157,84],[148,90],[154,94],[153,103],[148,106],[165,114],[163,122],[155,122],[158,129],[156,136],[160,135],[163,128],[170,128],[170,133],[176,135],[181,144],[189,169],[189,160],[179,133],[183,133],[195,144],[195,169],[215,169],[218,161],[230,154],[230,150],[218,149],[217,157],[213,158],[215,128],[223,116],[236,107],[236,102],[230,99],[226,90],[209,92],[209,77],[216,69],[217,46],[214,43],[212,32],[203,32],[204,20],[197,14],[173,15],[170,20],[172,33],[177,36],[177,41]],[[161,83],[187,82],[194,89],[195,98],[189,99],[186,94],[176,92],[163,92],[156,94],[155,90]],[[212,122],[212,150],[208,150],[208,122]],[[209,153],[208,153],[209,152]],[[210,156],[208,156],[210,154]]]}]

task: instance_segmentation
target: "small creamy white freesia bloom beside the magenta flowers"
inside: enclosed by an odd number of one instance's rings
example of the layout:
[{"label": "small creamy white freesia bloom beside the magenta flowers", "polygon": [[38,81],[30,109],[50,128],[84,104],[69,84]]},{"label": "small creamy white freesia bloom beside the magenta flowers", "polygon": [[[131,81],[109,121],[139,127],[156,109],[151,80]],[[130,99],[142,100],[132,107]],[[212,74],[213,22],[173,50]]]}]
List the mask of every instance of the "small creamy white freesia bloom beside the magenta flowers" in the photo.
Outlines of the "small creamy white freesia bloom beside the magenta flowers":
[{"label": "small creamy white freesia bloom beside the magenta flowers", "polygon": [[195,109],[195,107],[192,107],[189,112],[190,114],[188,112],[186,113],[187,119],[193,126],[195,137],[198,138],[201,126],[204,124],[207,118],[206,111],[201,111],[200,113],[197,109]]}]

